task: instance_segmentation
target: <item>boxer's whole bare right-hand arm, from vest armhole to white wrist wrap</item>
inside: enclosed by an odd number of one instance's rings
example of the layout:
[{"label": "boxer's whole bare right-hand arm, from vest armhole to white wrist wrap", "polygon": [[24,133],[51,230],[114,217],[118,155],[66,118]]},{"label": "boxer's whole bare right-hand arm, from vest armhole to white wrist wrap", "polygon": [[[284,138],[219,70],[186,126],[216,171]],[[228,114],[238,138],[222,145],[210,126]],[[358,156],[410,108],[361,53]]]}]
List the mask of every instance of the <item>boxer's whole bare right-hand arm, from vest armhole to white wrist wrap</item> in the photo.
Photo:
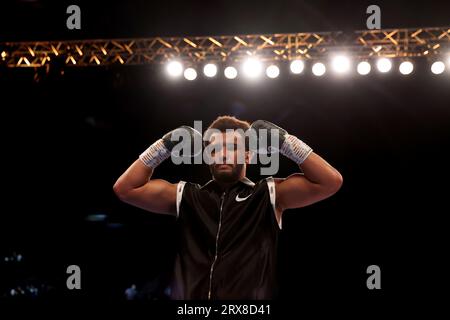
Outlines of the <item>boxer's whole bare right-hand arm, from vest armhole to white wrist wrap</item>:
[{"label": "boxer's whole bare right-hand arm, from vest armhole to white wrist wrap", "polygon": [[276,179],[277,211],[300,208],[326,199],[342,186],[341,174],[322,157],[312,152],[296,173]]}]

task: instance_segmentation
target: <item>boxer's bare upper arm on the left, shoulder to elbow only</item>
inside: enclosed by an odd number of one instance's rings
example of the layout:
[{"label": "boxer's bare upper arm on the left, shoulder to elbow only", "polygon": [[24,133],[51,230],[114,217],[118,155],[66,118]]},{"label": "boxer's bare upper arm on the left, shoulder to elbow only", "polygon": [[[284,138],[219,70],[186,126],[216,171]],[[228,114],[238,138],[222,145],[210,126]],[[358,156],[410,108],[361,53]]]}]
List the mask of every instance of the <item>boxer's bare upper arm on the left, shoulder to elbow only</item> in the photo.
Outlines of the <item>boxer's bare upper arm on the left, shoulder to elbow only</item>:
[{"label": "boxer's bare upper arm on the left, shoulder to elbow only", "polygon": [[155,213],[176,215],[178,184],[162,179],[151,179],[142,187],[131,190],[125,202]]}]

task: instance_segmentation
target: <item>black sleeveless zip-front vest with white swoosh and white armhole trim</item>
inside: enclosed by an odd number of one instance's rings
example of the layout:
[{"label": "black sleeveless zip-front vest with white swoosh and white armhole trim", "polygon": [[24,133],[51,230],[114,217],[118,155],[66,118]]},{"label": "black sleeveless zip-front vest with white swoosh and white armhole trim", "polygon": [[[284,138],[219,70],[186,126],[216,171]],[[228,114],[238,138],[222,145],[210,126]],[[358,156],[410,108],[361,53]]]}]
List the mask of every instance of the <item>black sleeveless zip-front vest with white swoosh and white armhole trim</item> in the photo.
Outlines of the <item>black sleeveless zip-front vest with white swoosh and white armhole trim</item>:
[{"label": "black sleeveless zip-front vest with white swoosh and white armhole trim", "polygon": [[180,182],[172,299],[273,299],[277,294],[275,184],[247,178],[223,191]]}]

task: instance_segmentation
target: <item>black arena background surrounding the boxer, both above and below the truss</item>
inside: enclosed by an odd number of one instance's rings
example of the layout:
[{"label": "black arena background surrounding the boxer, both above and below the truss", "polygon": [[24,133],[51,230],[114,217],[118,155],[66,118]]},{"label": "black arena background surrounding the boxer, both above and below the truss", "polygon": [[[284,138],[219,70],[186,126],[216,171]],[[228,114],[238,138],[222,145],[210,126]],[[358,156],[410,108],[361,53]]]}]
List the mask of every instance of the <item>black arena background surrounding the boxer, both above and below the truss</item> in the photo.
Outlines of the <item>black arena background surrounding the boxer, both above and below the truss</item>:
[{"label": "black arena background surrounding the boxer, both above and below the truss", "polygon": [[[81,31],[66,30],[69,4],[81,6]],[[0,42],[360,30],[370,4],[9,1],[0,9]],[[382,28],[450,25],[445,1],[376,4]],[[425,59],[410,76],[294,77],[283,68],[276,80],[248,84],[169,81],[161,66],[66,68],[63,76],[52,68],[36,82],[32,69],[2,66],[0,253],[24,260],[0,261],[0,299],[18,283],[45,284],[44,296],[94,300],[123,299],[136,283],[159,298],[174,220],[120,203],[112,185],[167,131],[222,114],[282,126],[344,177],[332,198],[285,213],[282,299],[379,304],[445,288],[448,70],[435,76]],[[281,164],[279,177],[296,170]],[[209,172],[166,162],[155,177],[204,183]],[[249,177],[258,180],[258,168]],[[107,218],[86,220],[95,214]],[[65,287],[70,264],[81,267],[80,292]],[[381,291],[366,288],[371,264],[381,267]]]}]

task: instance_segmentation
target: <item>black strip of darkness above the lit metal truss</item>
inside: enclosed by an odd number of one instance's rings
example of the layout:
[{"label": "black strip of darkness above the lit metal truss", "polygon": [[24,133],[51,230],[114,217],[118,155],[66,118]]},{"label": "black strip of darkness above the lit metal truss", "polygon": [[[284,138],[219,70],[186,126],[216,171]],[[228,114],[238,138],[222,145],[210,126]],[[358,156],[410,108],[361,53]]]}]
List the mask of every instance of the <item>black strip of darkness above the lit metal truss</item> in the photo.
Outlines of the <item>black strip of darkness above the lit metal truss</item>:
[{"label": "black strip of darkness above the lit metal truss", "polygon": [[[77,4],[82,29],[66,29]],[[366,9],[380,6],[381,27],[448,26],[449,3],[433,1],[3,1],[7,40],[219,35],[366,29]]]}]

